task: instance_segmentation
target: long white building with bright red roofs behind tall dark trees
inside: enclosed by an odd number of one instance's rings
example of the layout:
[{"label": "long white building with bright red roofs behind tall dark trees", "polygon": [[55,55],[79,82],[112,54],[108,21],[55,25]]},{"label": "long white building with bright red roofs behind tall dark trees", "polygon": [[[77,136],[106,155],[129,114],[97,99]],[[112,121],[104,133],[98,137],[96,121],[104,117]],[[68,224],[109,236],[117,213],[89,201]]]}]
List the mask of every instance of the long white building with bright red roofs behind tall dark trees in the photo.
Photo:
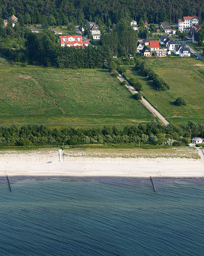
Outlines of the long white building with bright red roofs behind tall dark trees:
[{"label": "long white building with bright red roofs behind tall dark trees", "polygon": [[59,38],[61,46],[88,46],[88,42],[82,40],[82,35],[60,35]]}]

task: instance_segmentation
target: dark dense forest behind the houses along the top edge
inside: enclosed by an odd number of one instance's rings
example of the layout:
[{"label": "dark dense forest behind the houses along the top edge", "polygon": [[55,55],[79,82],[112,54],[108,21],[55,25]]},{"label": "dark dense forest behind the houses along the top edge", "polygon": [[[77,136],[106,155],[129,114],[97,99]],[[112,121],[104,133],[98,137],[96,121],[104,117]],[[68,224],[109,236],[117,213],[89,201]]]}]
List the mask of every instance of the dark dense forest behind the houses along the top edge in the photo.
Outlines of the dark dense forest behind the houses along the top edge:
[{"label": "dark dense forest behind the houses along the top edge", "polygon": [[203,19],[203,8],[203,0],[0,0],[0,17],[14,14],[21,24],[49,25],[80,25],[84,19],[102,24],[116,24],[122,18],[139,22],[141,17],[148,23],[177,23],[182,16]]}]

